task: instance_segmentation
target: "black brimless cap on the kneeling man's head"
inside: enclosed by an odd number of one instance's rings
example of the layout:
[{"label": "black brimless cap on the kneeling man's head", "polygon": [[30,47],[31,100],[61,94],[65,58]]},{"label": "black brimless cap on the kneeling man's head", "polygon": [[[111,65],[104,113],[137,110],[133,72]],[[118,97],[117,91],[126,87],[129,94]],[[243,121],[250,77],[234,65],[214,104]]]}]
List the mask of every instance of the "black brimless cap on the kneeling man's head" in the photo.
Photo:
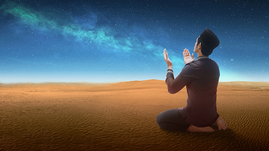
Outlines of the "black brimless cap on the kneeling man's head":
[{"label": "black brimless cap on the kneeling man's head", "polygon": [[210,50],[214,50],[219,45],[217,36],[208,28],[203,31],[200,37]]}]

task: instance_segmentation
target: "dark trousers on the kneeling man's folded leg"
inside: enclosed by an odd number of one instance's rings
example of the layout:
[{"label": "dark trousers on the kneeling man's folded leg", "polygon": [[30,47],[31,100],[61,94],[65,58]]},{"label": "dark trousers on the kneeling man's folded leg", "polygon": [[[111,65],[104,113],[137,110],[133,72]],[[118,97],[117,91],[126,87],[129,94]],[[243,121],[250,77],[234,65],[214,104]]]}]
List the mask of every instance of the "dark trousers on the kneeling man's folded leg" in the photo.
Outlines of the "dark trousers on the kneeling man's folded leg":
[{"label": "dark trousers on the kneeling man's folded leg", "polygon": [[165,130],[185,132],[190,124],[179,113],[179,109],[171,109],[161,112],[156,117],[157,124]]}]

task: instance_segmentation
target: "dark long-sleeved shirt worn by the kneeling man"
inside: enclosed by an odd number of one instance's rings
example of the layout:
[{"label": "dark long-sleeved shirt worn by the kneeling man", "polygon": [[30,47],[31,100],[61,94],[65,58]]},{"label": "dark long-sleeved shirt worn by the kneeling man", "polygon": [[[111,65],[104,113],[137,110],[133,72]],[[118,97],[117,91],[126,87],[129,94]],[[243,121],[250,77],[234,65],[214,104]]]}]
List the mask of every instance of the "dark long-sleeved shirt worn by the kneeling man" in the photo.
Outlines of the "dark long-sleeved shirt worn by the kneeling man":
[{"label": "dark long-sleeved shirt worn by the kneeling man", "polygon": [[169,93],[177,93],[186,85],[187,103],[185,107],[179,108],[186,122],[206,127],[219,117],[216,111],[218,79],[218,65],[209,58],[186,64],[176,79],[173,70],[167,70],[165,83]]}]

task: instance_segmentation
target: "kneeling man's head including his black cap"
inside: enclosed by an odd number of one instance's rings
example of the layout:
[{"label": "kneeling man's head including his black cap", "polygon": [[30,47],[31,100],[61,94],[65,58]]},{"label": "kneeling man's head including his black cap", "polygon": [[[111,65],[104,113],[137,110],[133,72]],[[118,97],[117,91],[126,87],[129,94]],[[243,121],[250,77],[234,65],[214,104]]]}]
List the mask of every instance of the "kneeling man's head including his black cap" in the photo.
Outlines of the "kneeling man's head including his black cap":
[{"label": "kneeling man's head including his black cap", "polygon": [[213,50],[219,45],[217,36],[208,28],[197,38],[194,52],[201,51],[203,55],[209,56]]}]

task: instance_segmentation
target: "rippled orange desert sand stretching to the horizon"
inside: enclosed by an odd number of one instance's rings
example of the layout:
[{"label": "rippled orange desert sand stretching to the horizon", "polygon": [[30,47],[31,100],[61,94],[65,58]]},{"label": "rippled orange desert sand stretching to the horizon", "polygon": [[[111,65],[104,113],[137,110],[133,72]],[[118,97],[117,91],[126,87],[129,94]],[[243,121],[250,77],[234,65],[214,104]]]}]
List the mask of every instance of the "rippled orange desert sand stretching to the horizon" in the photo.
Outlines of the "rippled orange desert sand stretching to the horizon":
[{"label": "rippled orange desert sand stretching to the horizon", "polygon": [[219,83],[226,131],[173,132],[156,116],[186,105],[165,81],[0,85],[1,151],[268,151],[269,83]]}]

